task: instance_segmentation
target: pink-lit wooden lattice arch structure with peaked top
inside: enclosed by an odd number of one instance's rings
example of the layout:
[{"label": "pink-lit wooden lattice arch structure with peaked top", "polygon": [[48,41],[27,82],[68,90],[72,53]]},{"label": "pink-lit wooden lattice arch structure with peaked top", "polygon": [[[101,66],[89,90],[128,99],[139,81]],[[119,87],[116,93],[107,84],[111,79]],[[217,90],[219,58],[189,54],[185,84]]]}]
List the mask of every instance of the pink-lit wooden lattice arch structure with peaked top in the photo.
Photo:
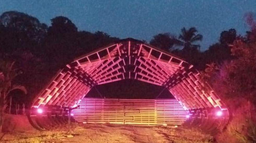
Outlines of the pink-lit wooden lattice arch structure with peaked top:
[{"label": "pink-lit wooden lattice arch structure with peaked top", "polygon": [[200,80],[200,73],[193,65],[131,38],[67,64],[38,95],[32,107],[75,107],[93,86],[122,79],[165,86],[194,118],[214,117],[213,113],[217,111],[223,111],[228,117],[225,104],[207,83]]}]

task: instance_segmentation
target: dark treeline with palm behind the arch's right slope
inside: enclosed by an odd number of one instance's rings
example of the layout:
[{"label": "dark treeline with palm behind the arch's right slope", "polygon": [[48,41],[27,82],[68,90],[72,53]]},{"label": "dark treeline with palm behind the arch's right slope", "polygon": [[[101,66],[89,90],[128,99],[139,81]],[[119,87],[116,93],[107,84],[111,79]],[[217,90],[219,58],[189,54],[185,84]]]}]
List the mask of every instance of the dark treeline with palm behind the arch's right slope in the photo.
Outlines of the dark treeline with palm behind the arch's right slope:
[{"label": "dark treeline with palm behind the arch's right slope", "polygon": [[178,38],[170,33],[155,35],[150,44],[172,52],[196,66],[197,69],[203,70],[207,63],[220,64],[232,59],[229,44],[233,43],[236,37],[235,29],[223,31],[218,43],[211,45],[206,51],[200,51],[199,41],[203,39],[203,36],[197,34],[196,28],[192,27],[188,30],[182,28]]}]

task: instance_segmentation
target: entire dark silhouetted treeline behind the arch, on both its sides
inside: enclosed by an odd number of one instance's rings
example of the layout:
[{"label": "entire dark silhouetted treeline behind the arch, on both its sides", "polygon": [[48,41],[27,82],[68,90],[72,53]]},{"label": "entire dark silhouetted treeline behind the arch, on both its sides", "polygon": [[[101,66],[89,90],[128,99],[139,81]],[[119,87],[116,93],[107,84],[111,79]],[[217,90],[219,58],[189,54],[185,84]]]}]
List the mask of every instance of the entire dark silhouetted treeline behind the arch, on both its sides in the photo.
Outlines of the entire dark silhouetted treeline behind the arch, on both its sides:
[{"label": "entire dark silhouetted treeline behind the arch, on both its sides", "polygon": [[[219,41],[206,51],[200,51],[203,35],[194,27],[182,28],[177,37],[159,33],[149,43],[174,53],[203,71],[208,67],[206,64],[221,65],[237,58],[232,55],[229,45],[237,38],[244,42],[253,41],[254,33],[252,29],[246,37],[241,37],[235,29],[223,31]],[[27,87],[26,101],[31,101],[57,70],[75,57],[117,40],[119,38],[102,31],[78,31],[75,24],[63,16],[51,19],[51,25],[17,11],[4,12],[0,16],[0,56],[2,60],[16,61],[15,66],[23,71],[15,82]]]}]

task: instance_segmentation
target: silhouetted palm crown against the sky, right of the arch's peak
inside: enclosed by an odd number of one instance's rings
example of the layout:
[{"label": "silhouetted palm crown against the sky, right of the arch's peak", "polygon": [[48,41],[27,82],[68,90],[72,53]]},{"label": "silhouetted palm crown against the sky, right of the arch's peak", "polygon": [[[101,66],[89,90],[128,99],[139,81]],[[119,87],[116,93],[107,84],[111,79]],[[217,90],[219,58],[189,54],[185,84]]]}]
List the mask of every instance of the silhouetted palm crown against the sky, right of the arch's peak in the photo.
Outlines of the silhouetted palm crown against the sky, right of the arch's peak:
[{"label": "silhouetted palm crown against the sky, right of the arch's peak", "polygon": [[195,45],[193,43],[197,41],[202,41],[203,36],[201,34],[196,34],[197,30],[195,27],[191,27],[188,30],[183,27],[181,29],[181,34],[179,35],[179,45],[183,46],[184,50],[198,49],[200,50],[200,45]]}]

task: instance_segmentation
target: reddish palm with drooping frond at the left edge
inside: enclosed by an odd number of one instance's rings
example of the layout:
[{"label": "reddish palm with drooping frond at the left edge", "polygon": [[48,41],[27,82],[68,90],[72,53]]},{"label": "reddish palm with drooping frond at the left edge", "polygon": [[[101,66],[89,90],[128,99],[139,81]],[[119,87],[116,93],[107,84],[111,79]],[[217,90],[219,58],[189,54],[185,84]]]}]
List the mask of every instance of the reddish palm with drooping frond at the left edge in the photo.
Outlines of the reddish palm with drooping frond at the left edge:
[{"label": "reddish palm with drooping frond at the left edge", "polygon": [[22,72],[18,69],[13,69],[14,62],[6,62],[0,60],[0,132],[2,131],[2,125],[4,122],[4,112],[7,107],[7,95],[15,89],[19,89],[26,93],[26,89],[21,85],[14,85],[13,79]]}]

